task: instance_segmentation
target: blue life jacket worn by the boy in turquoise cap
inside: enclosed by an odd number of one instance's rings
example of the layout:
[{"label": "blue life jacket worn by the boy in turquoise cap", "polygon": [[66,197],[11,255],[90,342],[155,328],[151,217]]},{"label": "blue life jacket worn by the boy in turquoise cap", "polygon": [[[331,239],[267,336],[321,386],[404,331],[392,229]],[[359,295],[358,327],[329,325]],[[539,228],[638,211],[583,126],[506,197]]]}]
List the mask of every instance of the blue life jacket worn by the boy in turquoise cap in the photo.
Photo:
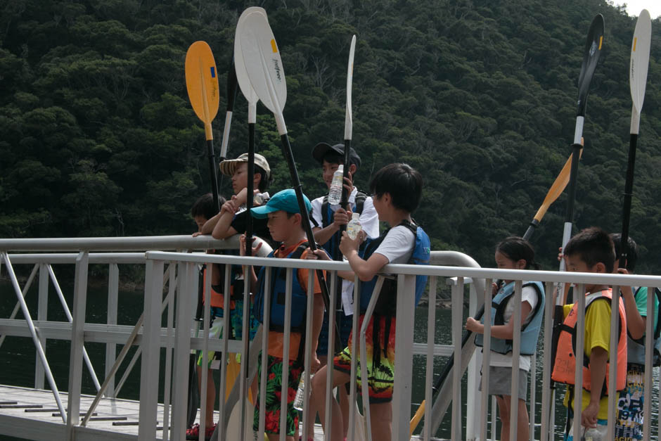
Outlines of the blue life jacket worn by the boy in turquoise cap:
[{"label": "blue life jacket worn by the boy in turquoise cap", "polygon": [[[288,259],[300,259],[303,252],[309,247],[309,243],[304,242],[297,246]],[[273,257],[274,251],[269,253],[268,257]],[[307,311],[307,289],[304,288],[298,276],[296,269],[293,270],[292,280],[292,311],[291,311],[291,330],[295,332],[304,332],[305,312]],[[257,293],[255,294],[255,303],[252,306],[252,312],[259,323],[264,323],[264,267],[259,270],[257,276]],[[269,329],[271,331],[284,332],[285,326],[285,293],[287,289],[285,268],[274,267],[271,269],[271,314]]]}]

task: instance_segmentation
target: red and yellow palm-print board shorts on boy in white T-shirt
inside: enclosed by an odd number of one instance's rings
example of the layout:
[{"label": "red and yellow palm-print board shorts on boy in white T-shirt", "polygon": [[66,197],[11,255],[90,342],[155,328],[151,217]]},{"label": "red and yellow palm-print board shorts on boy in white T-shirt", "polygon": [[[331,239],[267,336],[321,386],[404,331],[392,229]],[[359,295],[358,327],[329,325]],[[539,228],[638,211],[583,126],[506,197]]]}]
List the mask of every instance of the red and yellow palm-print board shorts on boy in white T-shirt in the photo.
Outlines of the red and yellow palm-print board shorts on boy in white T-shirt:
[{"label": "red and yellow palm-print board shorts on boy in white T-shirt", "polygon": [[[359,328],[362,326],[364,315],[359,318]],[[376,324],[376,326],[375,326]],[[394,317],[374,316],[367,326],[366,352],[367,352],[367,384],[369,402],[371,404],[387,403],[392,401],[392,385],[394,383]],[[375,332],[376,331],[376,332]],[[353,332],[349,335],[349,342],[340,354],[333,359],[333,368],[351,375],[352,340]],[[360,350],[360,345],[358,346]],[[361,388],[360,357],[357,359],[357,385]]]}]

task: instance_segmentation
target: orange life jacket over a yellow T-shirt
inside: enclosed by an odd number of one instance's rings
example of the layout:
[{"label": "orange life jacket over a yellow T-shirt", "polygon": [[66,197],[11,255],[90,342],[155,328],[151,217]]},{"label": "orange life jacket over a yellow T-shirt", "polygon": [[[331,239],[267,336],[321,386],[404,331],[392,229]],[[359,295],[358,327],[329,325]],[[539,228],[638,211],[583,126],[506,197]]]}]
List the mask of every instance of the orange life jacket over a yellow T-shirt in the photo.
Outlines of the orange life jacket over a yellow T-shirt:
[{"label": "orange life jacket over a yellow T-shirt", "polygon": [[[591,293],[585,296],[585,312],[587,314],[588,308],[593,302],[596,301],[612,301],[612,290],[603,290],[598,293]],[[563,321],[560,327],[560,338],[558,338],[558,351],[556,352],[556,364],[553,365],[553,381],[573,385],[575,381],[576,371],[576,321],[578,318],[578,303],[574,303],[574,307]],[[617,390],[623,390],[627,385],[627,316],[624,312],[624,303],[620,298],[619,305],[620,312],[620,331],[617,338],[617,380],[615,387]],[[583,352],[583,388],[591,390],[591,376],[590,376],[590,359]],[[610,355],[609,355],[610,358]],[[610,363],[606,363],[606,378],[603,382],[601,389],[602,397],[608,395],[608,372]]]}]

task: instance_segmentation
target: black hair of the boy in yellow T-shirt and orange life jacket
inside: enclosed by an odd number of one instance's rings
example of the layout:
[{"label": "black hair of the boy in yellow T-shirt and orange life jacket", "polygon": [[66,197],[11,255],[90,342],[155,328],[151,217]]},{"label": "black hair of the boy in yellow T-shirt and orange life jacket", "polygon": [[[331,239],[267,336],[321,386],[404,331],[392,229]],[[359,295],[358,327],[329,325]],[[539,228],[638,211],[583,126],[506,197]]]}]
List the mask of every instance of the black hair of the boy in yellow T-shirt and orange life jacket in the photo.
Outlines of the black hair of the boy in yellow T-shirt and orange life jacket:
[{"label": "black hair of the boy in yellow T-shirt and orange life jacket", "polygon": [[606,272],[612,273],[615,266],[615,248],[612,239],[598,226],[591,226],[572,237],[565,245],[566,256],[579,255],[589,267],[599,262],[606,267]]}]

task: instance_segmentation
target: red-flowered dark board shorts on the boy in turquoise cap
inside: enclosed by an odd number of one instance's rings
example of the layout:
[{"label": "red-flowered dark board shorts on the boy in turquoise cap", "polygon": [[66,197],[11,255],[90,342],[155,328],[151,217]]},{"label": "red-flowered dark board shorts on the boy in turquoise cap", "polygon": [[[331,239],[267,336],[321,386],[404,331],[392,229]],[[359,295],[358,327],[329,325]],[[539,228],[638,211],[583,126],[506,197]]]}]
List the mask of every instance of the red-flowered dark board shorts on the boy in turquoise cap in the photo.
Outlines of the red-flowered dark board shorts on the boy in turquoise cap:
[{"label": "red-flowered dark board shorts on the boy in turquoise cap", "polygon": [[[282,397],[282,373],[283,359],[280,357],[267,356],[267,387],[266,387],[266,406],[264,413],[264,432],[280,433],[280,403]],[[294,399],[298,390],[298,383],[303,373],[303,365],[296,360],[289,362],[289,377],[287,390],[287,436],[295,435],[298,429],[298,411],[294,409]],[[257,378],[262,378],[262,352],[259,352],[257,362]],[[257,400],[255,401],[255,414],[252,418],[252,430],[259,430],[259,394],[262,391],[261,385],[258,388]]]}]

